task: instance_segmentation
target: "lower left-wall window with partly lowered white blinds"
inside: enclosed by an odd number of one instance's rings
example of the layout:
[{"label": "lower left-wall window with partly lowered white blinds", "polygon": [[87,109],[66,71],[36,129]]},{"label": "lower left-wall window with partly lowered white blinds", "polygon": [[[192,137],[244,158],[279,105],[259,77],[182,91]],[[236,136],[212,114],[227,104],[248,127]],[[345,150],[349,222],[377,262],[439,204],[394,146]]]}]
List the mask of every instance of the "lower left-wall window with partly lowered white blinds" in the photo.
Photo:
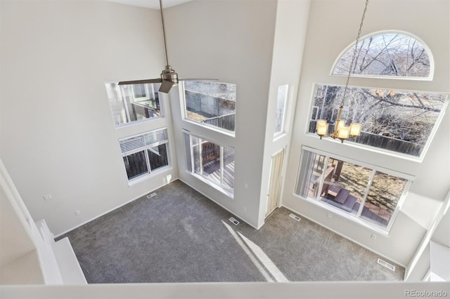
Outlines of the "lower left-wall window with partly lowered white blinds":
[{"label": "lower left-wall window with partly lowered white blinds", "polygon": [[165,128],[119,140],[128,180],[168,166],[168,142]]}]

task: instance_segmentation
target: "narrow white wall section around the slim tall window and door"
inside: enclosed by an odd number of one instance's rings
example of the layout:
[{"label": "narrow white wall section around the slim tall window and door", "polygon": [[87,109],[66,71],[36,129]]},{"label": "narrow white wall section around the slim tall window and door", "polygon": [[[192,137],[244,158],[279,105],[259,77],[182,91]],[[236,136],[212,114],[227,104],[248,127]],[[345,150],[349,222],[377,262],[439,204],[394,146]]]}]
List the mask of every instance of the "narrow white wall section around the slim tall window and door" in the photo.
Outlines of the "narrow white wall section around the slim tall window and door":
[{"label": "narrow white wall section around the slim tall window and door", "polygon": [[[271,67],[271,82],[266,115],[266,132],[264,141],[264,159],[261,175],[261,192],[259,206],[259,225],[264,223],[269,194],[269,179],[271,173],[271,157],[283,148],[286,149],[284,165],[286,166],[290,150],[290,139],[293,132],[295,104],[297,100],[298,82],[304,42],[307,34],[310,0],[278,1],[276,11],[276,31],[274,40],[274,55]],[[285,108],[283,133],[274,138],[278,87],[288,84],[288,99]],[[283,178],[285,177],[285,166]],[[283,184],[281,178],[281,184]],[[281,194],[283,197],[283,194]],[[281,199],[280,199],[281,204]]]}]

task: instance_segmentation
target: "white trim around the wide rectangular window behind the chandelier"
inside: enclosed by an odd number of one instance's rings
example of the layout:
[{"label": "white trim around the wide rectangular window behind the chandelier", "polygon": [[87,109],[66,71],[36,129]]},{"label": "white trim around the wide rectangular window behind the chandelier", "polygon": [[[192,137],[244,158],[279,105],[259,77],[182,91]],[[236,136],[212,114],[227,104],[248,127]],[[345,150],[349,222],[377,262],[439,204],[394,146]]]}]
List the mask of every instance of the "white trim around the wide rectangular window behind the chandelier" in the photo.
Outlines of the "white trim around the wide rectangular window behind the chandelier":
[{"label": "white trim around the wide rectangular window behind the chandelier", "polygon": [[[308,108],[308,116],[305,119],[305,126],[304,126],[304,134],[307,136],[311,136],[312,138],[319,138],[319,136],[316,133],[310,133],[308,131],[309,128],[309,122],[312,121],[313,119],[311,119],[311,111],[314,106],[314,90],[316,89],[315,86],[319,84],[319,85],[327,85],[327,86],[344,86],[341,84],[332,84],[332,83],[317,83],[314,82],[312,84],[312,88],[311,88],[311,96],[309,97],[309,108]],[[363,145],[361,143],[357,143],[357,142],[344,142],[342,145],[344,146],[349,146],[349,147],[356,147],[360,150],[368,150],[371,152],[376,152],[376,153],[380,153],[380,154],[385,154],[387,156],[391,156],[391,157],[397,157],[397,158],[401,158],[401,159],[405,159],[405,160],[409,160],[409,161],[416,161],[416,162],[422,162],[423,158],[425,158],[425,154],[427,154],[428,152],[428,148],[431,145],[432,140],[435,138],[435,134],[437,129],[439,128],[442,119],[444,119],[444,114],[446,113],[446,110],[448,109],[449,105],[450,105],[450,94],[449,93],[441,93],[441,92],[437,92],[437,91],[412,91],[412,90],[406,90],[406,89],[397,89],[397,88],[385,88],[385,87],[369,87],[369,86],[348,86],[349,88],[368,88],[368,89],[387,89],[387,90],[392,90],[394,89],[395,91],[401,91],[401,92],[417,92],[417,93],[439,93],[439,94],[444,94],[447,95],[447,100],[444,102],[444,104],[442,105],[442,111],[439,113],[439,116],[436,119],[435,122],[435,126],[433,126],[430,135],[428,136],[428,140],[425,143],[425,145],[423,146],[423,150],[420,153],[420,156],[413,156],[411,154],[402,154],[401,152],[394,152],[391,150],[385,150],[379,147],[371,147],[370,145]],[[326,142],[340,142],[340,140],[333,140],[333,138],[322,138],[322,141],[326,141]]]}]

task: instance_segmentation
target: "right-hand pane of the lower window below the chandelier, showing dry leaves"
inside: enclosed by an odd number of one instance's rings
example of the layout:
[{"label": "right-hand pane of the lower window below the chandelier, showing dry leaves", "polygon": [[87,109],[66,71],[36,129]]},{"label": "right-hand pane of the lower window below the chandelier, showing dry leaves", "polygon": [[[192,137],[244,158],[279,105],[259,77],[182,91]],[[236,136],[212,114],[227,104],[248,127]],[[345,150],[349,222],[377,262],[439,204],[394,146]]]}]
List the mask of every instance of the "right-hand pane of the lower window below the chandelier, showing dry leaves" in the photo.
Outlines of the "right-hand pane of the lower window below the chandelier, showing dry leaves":
[{"label": "right-hand pane of the lower window below the chandelier, showing dry leaves", "polygon": [[361,218],[387,227],[394,213],[407,180],[386,173],[376,172],[364,204]]}]

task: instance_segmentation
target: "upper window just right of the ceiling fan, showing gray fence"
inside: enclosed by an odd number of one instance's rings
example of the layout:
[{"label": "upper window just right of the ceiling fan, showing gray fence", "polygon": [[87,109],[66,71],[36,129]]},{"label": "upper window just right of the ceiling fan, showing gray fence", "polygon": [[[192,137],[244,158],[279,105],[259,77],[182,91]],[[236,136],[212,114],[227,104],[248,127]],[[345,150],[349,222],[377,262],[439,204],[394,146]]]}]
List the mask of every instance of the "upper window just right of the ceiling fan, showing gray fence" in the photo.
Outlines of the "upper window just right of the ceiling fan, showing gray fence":
[{"label": "upper window just right of the ceiling fan, showing gray fence", "polygon": [[185,119],[235,131],[236,84],[183,81]]}]

